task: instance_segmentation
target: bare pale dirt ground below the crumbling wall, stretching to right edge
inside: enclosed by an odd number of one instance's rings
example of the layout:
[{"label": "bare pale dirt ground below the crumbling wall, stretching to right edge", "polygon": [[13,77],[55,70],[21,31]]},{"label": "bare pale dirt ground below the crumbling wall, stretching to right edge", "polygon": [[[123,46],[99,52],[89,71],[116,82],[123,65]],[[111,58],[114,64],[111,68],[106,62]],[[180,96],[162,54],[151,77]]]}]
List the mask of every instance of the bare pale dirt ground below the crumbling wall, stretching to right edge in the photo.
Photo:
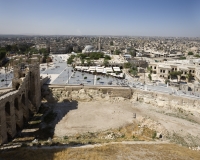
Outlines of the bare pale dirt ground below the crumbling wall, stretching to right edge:
[{"label": "bare pale dirt ground below the crumbling wall, stretching to right edge", "polygon": [[[67,103],[61,103],[59,106],[59,110],[68,107]],[[56,106],[54,109],[57,112],[58,108]],[[179,117],[178,114],[172,114],[175,112],[174,110],[156,108],[140,102],[78,102],[77,108],[70,110],[56,124],[54,136],[63,137],[77,133],[103,131],[135,121],[142,126],[148,126],[156,130],[164,136],[167,132],[178,137],[188,138],[189,136],[188,141],[193,137],[195,145],[200,145],[200,137],[198,137],[200,117],[193,116],[197,120],[197,122],[193,122],[190,119]],[[136,113],[136,118],[134,118],[134,113]]]}]

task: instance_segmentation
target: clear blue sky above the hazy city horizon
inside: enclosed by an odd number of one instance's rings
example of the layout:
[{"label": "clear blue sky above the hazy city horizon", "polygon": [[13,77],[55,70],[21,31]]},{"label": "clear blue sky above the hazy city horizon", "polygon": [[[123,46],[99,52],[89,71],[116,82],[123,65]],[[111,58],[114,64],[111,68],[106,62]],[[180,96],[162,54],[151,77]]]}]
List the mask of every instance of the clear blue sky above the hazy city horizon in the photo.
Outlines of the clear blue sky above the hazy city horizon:
[{"label": "clear blue sky above the hazy city horizon", "polygon": [[0,0],[0,34],[200,37],[200,0]]}]

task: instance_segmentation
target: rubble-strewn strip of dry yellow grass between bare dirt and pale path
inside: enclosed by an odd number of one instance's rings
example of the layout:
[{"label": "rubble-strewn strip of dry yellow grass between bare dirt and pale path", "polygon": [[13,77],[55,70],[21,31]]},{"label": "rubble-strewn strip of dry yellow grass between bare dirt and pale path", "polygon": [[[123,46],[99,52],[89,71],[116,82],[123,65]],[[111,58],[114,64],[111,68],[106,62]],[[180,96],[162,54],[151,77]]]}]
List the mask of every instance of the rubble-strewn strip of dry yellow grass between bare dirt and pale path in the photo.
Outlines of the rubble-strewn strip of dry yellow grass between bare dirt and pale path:
[{"label": "rubble-strewn strip of dry yellow grass between bare dirt and pale path", "polygon": [[[112,138],[108,138],[112,135]],[[65,144],[96,144],[120,141],[152,141],[154,140],[155,131],[147,127],[139,127],[132,123],[117,129],[109,129],[101,132],[88,132],[76,134],[73,136],[64,136],[63,138],[54,137],[54,142]]]}]

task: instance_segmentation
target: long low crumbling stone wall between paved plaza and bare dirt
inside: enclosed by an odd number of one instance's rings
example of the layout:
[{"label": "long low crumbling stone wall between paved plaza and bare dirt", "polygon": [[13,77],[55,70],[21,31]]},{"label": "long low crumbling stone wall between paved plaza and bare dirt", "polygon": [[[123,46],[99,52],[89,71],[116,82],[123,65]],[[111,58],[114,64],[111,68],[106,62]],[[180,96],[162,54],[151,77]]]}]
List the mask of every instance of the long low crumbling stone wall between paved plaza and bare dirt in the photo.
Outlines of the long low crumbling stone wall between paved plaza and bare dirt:
[{"label": "long low crumbling stone wall between paved plaza and bare dirt", "polygon": [[[46,89],[45,89],[46,88]],[[63,100],[131,100],[164,108],[185,108],[200,111],[200,99],[191,99],[160,92],[150,92],[128,87],[49,86],[42,95],[49,102]]]}]

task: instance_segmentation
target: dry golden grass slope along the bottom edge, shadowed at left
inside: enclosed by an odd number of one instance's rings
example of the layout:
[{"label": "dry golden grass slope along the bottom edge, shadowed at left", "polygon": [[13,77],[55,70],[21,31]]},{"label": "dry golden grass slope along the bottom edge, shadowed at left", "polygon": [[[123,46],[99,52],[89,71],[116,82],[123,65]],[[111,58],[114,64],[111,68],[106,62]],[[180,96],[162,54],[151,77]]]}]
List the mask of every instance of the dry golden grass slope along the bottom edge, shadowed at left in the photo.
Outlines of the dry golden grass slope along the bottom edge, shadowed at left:
[{"label": "dry golden grass slope along the bottom edge, shadowed at left", "polygon": [[1,151],[5,160],[128,160],[128,159],[180,159],[199,160],[200,152],[176,144],[109,144],[94,148],[30,149]]}]

